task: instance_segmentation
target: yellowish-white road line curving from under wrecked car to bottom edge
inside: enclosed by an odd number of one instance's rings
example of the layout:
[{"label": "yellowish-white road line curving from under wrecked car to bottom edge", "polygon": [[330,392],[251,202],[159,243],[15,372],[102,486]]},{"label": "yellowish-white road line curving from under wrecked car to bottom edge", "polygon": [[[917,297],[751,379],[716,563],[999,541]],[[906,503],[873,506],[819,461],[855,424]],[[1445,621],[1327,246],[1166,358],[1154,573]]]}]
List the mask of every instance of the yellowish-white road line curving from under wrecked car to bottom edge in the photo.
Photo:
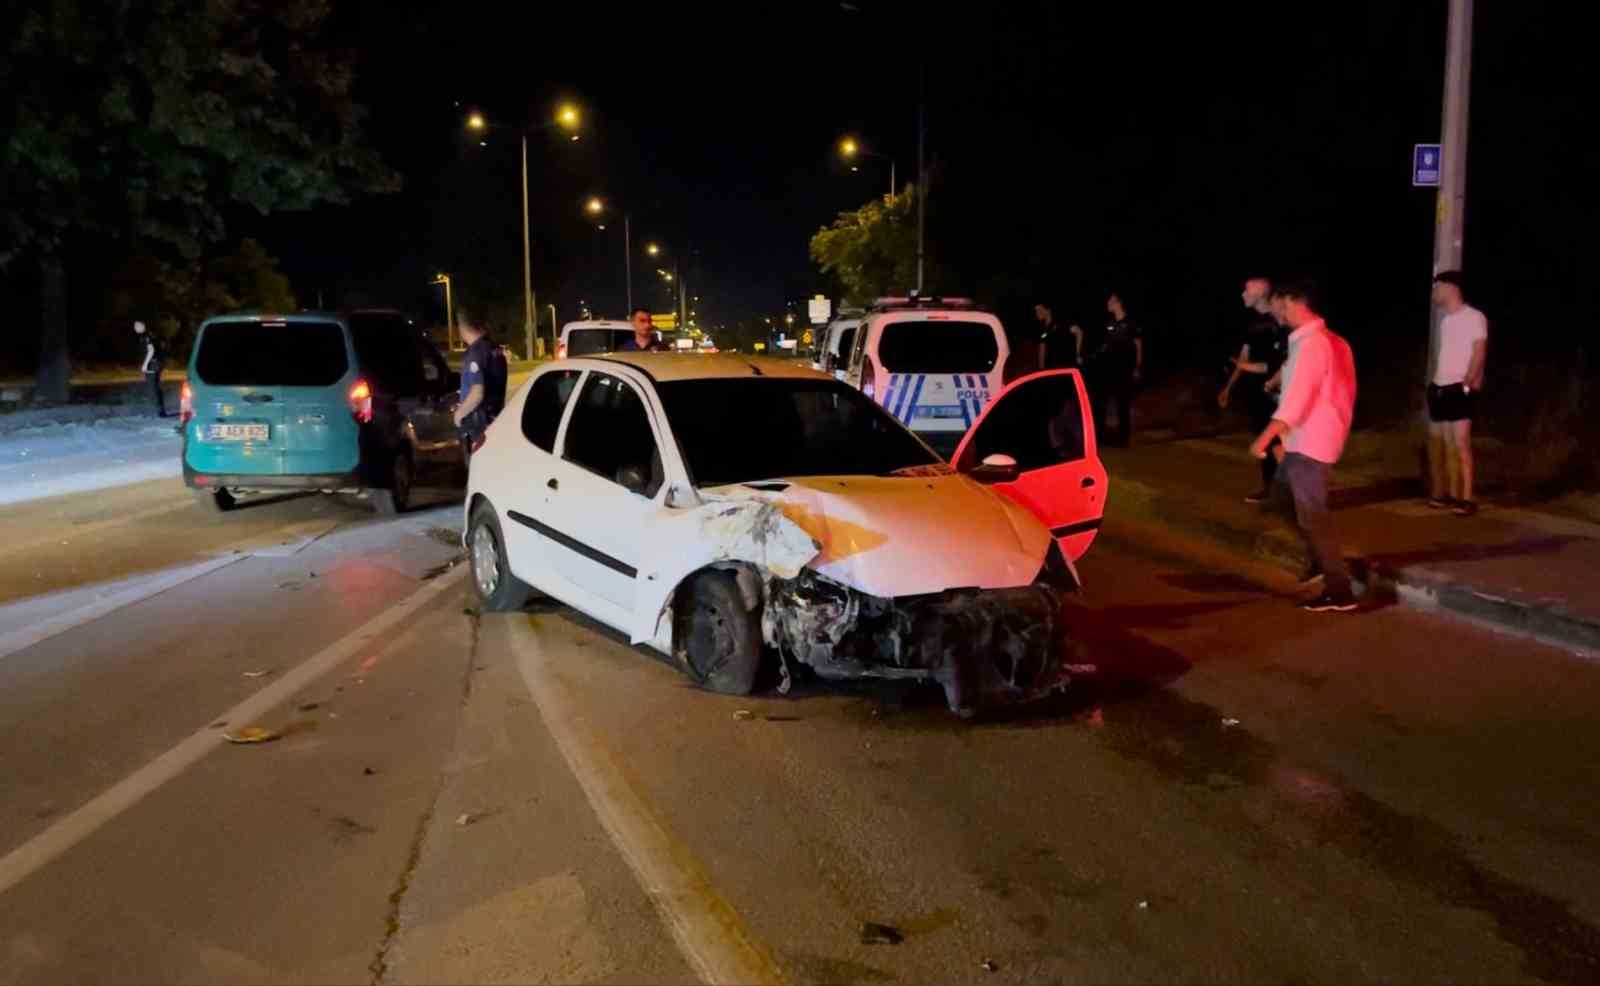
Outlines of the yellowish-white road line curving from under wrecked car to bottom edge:
[{"label": "yellowish-white road line curving from under wrecked car to bottom edge", "polygon": [[514,618],[510,635],[517,669],[555,746],[694,972],[714,986],[782,983],[782,973],[712,888],[699,863],[606,756],[578,701],[550,674],[528,619]]}]

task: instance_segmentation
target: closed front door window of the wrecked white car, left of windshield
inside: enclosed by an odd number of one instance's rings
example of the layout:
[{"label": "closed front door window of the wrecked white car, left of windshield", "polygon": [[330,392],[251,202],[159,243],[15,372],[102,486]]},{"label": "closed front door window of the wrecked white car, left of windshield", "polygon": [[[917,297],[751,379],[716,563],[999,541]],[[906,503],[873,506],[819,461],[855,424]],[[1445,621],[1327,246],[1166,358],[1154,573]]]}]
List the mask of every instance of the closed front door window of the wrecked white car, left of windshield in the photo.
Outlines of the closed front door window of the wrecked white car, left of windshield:
[{"label": "closed front door window of the wrecked white car, left of windshield", "polygon": [[562,458],[646,498],[666,482],[645,402],[606,373],[590,373],[579,391]]}]

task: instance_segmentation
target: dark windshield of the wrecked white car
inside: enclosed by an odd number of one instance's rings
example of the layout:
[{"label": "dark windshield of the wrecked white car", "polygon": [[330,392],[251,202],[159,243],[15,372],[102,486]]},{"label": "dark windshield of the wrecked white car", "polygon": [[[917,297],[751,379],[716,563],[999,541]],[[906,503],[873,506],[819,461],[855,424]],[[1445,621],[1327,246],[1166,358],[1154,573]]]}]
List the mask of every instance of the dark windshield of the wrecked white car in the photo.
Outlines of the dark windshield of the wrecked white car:
[{"label": "dark windshield of the wrecked white car", "polygon": [[698,487],[941,464],[877,403],[837,381],[690,379],[656,391]]}]

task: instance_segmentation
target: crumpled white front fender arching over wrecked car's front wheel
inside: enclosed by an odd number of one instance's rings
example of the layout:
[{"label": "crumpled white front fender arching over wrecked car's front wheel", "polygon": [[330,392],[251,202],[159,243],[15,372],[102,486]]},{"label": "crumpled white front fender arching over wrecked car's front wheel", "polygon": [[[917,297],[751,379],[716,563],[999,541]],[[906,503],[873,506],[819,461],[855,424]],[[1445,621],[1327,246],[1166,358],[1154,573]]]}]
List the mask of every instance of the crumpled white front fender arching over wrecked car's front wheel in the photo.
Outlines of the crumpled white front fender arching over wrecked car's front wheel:
[{"label": "crumpled white front fender arching over wrecked car's front wheel", "polygon": [[[704,495],[702,495],[704,496]],[[677,535],[651,544],[651,568],[640,570],[634,599],[632,643],[654,643],[670,653],[667,603],[685,578],[709,565],[747,563],[762,578],[795,578],[821,544],[784,515],[779,504],[757,496],[704,498],[691,507],[699,523],[672,523]]]}]

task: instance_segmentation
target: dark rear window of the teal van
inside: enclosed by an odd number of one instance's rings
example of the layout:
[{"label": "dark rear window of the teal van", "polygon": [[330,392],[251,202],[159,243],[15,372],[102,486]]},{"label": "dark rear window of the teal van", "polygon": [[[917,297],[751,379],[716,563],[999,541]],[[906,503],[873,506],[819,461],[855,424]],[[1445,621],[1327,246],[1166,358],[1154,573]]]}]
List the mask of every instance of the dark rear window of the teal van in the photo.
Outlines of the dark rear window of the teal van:
[{"label": "dark rear window of the teal van", "polygon": [[195,375],[219,387],[326,387],[350,368],[338,322],[213,322]]}]

